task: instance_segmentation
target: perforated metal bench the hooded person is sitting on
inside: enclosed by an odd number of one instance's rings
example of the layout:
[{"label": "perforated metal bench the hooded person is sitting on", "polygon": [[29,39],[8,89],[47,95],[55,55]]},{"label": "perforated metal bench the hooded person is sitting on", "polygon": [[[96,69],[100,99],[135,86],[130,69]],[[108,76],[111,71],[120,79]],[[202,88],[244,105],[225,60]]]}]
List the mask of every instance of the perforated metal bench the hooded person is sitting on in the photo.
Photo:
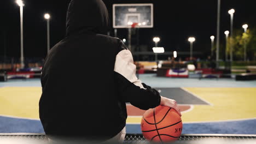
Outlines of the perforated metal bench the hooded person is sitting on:
[{"label": "perforated metal bench the hooded person is sitting on", "polygon": [[[26,134],[26,133],[9,133],[1,134],[0,133],[0,143],[3,143],[3,140],[11,142],[11,140],[16,143],[21,143],[19,140],[33,141],[37,143],[44,142],[44,144],[49,143],[47,136],[45,134]],[[11,144],[16,144],[11,143]],[[126,134],[124,143],[150,143],[146,140],[142,134]],[[235,143],[235,144],[252,144],[256,143],[256,135],[235,135],[235,134],[183,134],[179,137],[179,140],[173,143],[196,143],[196,144],[226,144],[226,143]],[[5,144],[5,143],[3,143]],[[23,143],[22,143],[23,144]],[[27,144],[27,143],[26,143]]]}]

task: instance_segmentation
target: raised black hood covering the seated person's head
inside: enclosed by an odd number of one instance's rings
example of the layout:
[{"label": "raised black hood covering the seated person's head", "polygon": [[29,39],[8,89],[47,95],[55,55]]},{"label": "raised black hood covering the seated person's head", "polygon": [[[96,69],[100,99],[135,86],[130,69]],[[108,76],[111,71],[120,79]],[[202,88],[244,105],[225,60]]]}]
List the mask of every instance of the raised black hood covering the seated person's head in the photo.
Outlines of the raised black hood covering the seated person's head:
[{"label": "raised black hood covering the seated person's head", "polygon": [[102,0],[72,0],[66,20],[66,36],[75,33],[106,34],[108,10]]}]

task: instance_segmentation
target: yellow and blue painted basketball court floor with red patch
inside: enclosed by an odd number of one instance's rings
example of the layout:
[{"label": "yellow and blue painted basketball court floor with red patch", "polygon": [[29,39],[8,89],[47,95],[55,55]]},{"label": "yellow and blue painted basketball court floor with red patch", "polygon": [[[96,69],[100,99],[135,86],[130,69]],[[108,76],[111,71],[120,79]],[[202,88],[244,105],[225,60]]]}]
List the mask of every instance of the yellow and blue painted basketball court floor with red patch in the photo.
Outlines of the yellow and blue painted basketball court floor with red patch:
[{"label": "yellow and blue painted basketball court floor with red patch", "polygon": [[[177,81],[185,79],[154,74],[139,77],[162,96],[177,100],[183,115],[183,134],[256,134],[255,81],[240,87],[240,82],[230,79],[188,79],[190,86],[178,87],[182,84]],[[209,82],[225,82],[226,87],[207,87]],[[156,87],[159,83],[167,85]],[[0,133],[44,133],[38,114],[39,79],[9,80],[0,87]],[[144,111],[127,104],[127,113],[127,133],[141,134]]]}]

